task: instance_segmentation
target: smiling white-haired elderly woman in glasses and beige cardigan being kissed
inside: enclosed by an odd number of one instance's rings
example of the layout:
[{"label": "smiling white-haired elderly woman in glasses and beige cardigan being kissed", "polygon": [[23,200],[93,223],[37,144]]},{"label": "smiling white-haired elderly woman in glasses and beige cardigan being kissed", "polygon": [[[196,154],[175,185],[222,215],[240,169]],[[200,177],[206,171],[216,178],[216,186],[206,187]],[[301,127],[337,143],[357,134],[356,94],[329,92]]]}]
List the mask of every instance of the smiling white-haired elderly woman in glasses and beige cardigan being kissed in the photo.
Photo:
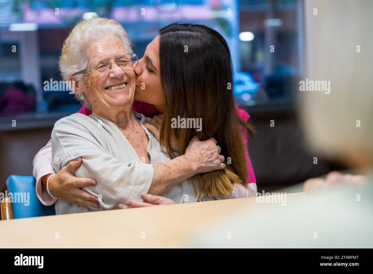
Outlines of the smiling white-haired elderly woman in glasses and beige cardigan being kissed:
[{"label": "smiling white-haired elderly woman in glasses and beige cardigan being kissed", "polygon": [[[179,203],[209,199],[203,193],[195,196],[186,179],[225,168],[213,138],[204,142],[193,138],[184,155],[170,160],[144,126],[145,117],[132,111],[132,64],[137,56],[131,52],[122,26],[105,18],[78,23],[64,42],[62,77],[74,81],[75,94],[93,114],[76,113],[56,122],[51,135],[53,168],[58,172],[81,157],[75,174],[95,178],[97,184],[84,189],[99,205],[86,208],[59,199],[57,214],[115,209],[128,199],[141,199],[141,193],[164,195]],[[47,190],[53,196],[48,179]]]}]

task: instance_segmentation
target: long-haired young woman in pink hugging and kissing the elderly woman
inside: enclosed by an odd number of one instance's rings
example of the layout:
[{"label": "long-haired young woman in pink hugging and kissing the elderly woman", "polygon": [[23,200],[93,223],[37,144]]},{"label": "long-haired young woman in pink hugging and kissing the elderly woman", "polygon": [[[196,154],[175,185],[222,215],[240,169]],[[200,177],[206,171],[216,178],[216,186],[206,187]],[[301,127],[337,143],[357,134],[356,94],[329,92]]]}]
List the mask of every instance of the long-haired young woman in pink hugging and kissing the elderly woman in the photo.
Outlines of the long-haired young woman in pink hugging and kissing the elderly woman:
[{"label": "long-haired young woman in pink hugging and kissing the elderly woman", "polygon": [[[234,104],[230,89],[232,62],[224,38],[207,26],[171,24],[161,29],[160,35],[148,45],[134,71],[137,86],[133,108],[150,117],[164,113],[148,118],[147,128],[166,147],[170,157],[177,155],[174,151],[184,154],[194,135],[200,140],[213,136],[220,145],[221,154],[227,160],[226,169],[193,176],[191,183],[195,192],[204,192],[216,199],[254,196],[256,182],[247,154],[246,131],[253,136],[254,130],[246,122],[248,114]],[[86,108],[79,112],[91,114]],[[201,119],[201,131],[173,128],[171,119],[178,117]],[[43,204],[55,201],[46,192],[44,184],[48,174],[54,173],[50,162],[48,143],[34,159],[37,194]],[[73,203],[79,198],[82,205],[85,202],[91,205],[95,203],[95,197],[72,184],[73,172],[80,164],[80,159],[70,162],[50,178],[49,185],[53,186],[52,194],[57,198]],[[88,186],[94,180],[77,178],[75,182],[79,186]]]}]

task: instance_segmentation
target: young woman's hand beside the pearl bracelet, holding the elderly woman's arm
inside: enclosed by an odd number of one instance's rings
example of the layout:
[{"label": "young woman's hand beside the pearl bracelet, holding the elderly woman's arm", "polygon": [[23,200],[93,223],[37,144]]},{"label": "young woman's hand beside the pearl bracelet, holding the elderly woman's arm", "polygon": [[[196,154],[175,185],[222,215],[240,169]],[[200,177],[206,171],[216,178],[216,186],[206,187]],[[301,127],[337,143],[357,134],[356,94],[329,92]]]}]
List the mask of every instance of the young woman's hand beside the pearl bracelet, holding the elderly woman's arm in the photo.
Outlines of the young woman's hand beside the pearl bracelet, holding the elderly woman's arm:
[{"label": "young woman's hand beside the pearl bracelet, holding the elderly woman's arm", "polygon": [[[75,170],[82,164],[82,158],[70,161],[56,175],[49,178],[48,189],[50,193],[60,199],[64,199],[76,205],[83,207],[100,208],[98,197],[82,190],[83,186],[94,186],[96,181],[91,178],[77,178],[74,175]],[[75,179],[76,178],[76,179]],[[73,184],[75,179],[75,185]]]}]

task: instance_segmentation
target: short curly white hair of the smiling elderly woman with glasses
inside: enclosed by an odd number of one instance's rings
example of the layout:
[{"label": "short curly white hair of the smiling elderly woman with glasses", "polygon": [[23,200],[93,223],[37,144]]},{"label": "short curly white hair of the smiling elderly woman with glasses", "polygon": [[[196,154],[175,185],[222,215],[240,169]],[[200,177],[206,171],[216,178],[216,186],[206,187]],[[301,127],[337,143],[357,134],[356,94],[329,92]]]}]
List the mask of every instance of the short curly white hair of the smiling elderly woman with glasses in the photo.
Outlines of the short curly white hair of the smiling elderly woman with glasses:
[{"label": "short curly white hair of the smiling elderly woman with glasses", "polygon": [[[97,38],[107,35],[118,37],[125,47],[127,53],[132,53],[132,43],[125,29],[115,20],[94,17],[81,21],[75,25],[68,38],[63,42],[62,53],[59,61],[59,69],[63,80],[67,81],[73,73],[88,66],[88,45]],[[82,74],[74,76],[78,81]],[[85,99],[83,105],[90,107]]]}]

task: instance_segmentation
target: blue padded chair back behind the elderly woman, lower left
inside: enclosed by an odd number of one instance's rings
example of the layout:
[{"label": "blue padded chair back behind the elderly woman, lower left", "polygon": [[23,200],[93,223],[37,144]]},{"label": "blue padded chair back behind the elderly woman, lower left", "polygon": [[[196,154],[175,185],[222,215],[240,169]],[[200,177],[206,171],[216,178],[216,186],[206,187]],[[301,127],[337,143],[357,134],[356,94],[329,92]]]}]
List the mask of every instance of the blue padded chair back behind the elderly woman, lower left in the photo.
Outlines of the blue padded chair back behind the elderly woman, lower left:
[{"label": "blue padded chair back behind the elderly woman, lower left", "polygon": [[13,193],[15,219],[56,215],[54,204],[46,206],[40,202],[36,195],[36,180],[33,176],[10,175],[6,180],[6,186],[8,193]]}]

